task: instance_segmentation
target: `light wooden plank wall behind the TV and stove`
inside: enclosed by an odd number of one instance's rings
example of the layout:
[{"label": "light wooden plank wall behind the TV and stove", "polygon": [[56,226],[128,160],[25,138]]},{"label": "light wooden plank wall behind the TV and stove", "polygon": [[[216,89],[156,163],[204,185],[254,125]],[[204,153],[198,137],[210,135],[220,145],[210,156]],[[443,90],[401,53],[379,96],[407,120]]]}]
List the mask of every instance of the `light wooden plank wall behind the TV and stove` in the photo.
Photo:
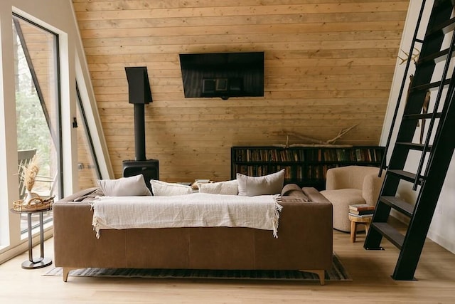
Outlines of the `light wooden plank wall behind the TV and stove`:
[{"label": "light wooden plank wall behind the TV and stove", "polygon": [[[286,130],[378,145],[409,0],[73,0],[116,177],[134,159],[125,66],[146,65],[160,179],[230,178],[232,145]],[[184,98],[179,53],[264,51],[263,98]],[[289,143],[302,141],[291,137]]]}]

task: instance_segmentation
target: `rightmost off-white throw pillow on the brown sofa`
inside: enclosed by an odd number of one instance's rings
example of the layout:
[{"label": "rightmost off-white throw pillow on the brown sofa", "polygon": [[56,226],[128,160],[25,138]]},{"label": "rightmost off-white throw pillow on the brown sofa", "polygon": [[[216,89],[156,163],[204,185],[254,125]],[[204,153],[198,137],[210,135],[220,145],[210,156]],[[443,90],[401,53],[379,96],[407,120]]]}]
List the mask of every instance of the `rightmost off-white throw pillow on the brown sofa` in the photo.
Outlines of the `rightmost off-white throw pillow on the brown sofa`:
[{"label": "rightmost off-white throw pillow on the brown sofa", "polygon": [[237,182],[239,195],[242,196],[279,194],[283,189],[284,169],[263,177],[249,177],[237,173]]}]

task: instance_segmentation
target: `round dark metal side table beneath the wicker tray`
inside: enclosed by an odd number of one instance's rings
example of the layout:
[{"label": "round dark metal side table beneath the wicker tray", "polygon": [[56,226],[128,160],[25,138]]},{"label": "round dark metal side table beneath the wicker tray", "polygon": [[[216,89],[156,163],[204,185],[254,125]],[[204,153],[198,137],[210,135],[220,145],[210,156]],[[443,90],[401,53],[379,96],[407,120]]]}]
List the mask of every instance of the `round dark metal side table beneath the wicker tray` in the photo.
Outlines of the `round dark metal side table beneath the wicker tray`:
[{"label": "round dark metal side table beneath the wicker tray", "polygon": [[[43,229],[43,212],[52,210],[52,207],[43,210],[33,210],[33,211],[16,211],[10,209],[11,212],[16,214],[27,214],[28,222],[28,261],[23,261],[23,269],[36,269],[43,268],[52,264],[50,258],[44,257],[44,229]],[[32,247],[32,233],[31,233],[31,215],[34,213],[40,214],[40,248],[41,256],[39,258],[33,258],[33,247]]]}]

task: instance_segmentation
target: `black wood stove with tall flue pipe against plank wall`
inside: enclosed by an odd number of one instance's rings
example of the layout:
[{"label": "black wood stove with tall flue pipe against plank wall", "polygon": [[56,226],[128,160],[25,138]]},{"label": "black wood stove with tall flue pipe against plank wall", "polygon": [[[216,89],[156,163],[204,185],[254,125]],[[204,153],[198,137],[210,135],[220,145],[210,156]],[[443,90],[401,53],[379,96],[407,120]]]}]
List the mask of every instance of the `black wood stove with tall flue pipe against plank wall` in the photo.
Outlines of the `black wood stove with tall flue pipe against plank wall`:
[{"label": "black wood stove with tall flue pipe against plank wall", "polygon": [[134,152],[136,159],[123,161],[123,176],[142,174],[147,187],[150,179],[159,179],[158,159],[146,159],[144,105],[150,103],[151,90],[146,67],[126,67],[129,103],[134,104]]}]

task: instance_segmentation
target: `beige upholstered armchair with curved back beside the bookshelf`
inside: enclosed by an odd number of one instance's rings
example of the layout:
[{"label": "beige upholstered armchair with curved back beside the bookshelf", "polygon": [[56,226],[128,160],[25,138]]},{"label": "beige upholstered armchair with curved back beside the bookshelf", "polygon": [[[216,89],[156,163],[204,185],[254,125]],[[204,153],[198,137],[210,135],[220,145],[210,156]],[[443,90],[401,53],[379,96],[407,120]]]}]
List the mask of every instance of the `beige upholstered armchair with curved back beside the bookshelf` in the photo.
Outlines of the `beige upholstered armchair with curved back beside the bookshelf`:
[{"label": "beige upholstered armchair with curved back beside the bookshelf", "polygon": [[333,205],[333,228],[350,231],[349,205],[375,206],[385,174],[378,167],[347,166],[327,170],[326,190],[321,191]]}]

